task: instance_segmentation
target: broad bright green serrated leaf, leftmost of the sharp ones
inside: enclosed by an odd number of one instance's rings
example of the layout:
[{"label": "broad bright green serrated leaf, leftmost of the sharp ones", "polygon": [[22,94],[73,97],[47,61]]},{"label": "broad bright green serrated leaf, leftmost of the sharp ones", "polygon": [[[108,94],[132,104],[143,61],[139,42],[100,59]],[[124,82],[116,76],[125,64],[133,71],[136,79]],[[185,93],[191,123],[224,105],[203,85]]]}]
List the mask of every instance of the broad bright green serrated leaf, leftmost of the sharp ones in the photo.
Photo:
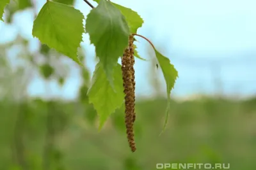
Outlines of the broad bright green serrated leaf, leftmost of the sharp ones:
[{"label": "broad bright green serrated leaf, leftmost of the sharp ones", "polygon": [[33,36],[81,64],[77,47],[82,41],[83,14],[71,6],[48,1],[36,17]]}]

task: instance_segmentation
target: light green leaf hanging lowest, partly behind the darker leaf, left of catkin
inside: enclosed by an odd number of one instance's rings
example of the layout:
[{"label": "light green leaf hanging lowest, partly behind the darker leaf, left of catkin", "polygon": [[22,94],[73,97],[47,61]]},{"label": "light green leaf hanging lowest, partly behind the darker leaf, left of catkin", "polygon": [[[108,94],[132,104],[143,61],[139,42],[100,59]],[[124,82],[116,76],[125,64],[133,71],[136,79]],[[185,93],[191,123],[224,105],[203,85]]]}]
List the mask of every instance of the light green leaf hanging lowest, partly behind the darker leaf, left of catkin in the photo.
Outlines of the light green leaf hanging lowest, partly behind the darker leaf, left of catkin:
[{"label": "light green leaf hanging lowest, partly behind the darker leaf, left of catkin", "polygon": [[93,104],[99,115],[99,129],[102,128],[109,115],[124,103],[124,88],[120,64],[116,64],[114,67],[113,79],[115,90],[111,87],[104,68],[99,62],[95,67],[92,85],[88,90],[89,102]]}]

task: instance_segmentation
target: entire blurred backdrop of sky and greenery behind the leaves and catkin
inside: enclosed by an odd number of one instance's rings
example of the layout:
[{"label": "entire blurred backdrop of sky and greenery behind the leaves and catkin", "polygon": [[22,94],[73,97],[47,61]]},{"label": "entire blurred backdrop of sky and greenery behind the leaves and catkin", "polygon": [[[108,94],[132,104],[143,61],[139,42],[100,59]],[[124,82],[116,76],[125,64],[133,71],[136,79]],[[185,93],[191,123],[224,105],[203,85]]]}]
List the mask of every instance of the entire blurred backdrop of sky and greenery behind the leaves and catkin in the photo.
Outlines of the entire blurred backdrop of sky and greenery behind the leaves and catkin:
[{"label": "entire blurred backdrop of sky and greenery behind the leaves and catkin", "polygon": [[[83,0],[55,1],[84,16],[91,10]],[[256,169],[255,1],[113,1],[138,11],[145,21],[138,34],[179,71],[169,124],[159,136],[165,82],[154,51],[137,38],[147,61],[135,65],[135,153],[124,106],[98,132],[86,96],[96,64],[88,34],[79,48],[81,68],[33,38],[33,20],[46,1],[20,2],[11,0],[0,22],[0,169],[151,170],[157,163]]]}]

